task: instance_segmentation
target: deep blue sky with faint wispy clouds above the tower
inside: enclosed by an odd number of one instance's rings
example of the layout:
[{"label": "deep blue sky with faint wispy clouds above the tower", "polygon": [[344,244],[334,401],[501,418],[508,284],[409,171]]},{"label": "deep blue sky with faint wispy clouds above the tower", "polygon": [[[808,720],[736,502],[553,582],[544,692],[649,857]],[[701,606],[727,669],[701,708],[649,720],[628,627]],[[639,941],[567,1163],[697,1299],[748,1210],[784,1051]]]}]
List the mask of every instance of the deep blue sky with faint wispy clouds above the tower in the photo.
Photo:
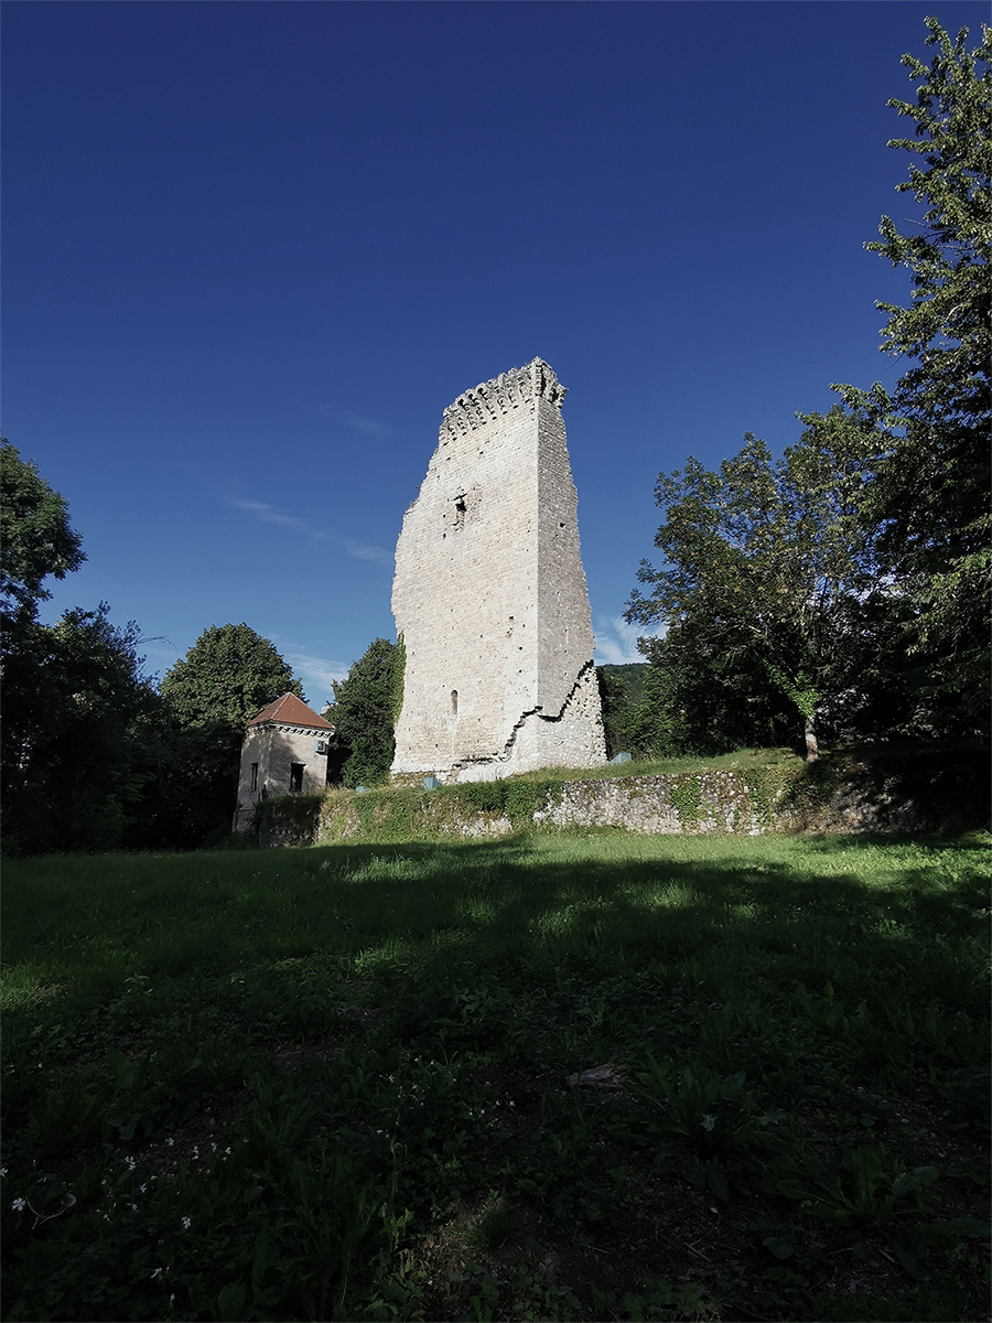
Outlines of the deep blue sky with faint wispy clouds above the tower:
[{"label": "deep blue sky with faint wispy clouds above the tower", "polygon": [[45,618],[106,599],[159,673],[247,620],[319,708],[394,636],[442,410],[540,355],[630,655],[659,470],[899,373],[862,245],[930,13],[987,9],[7,0],[4,435],[89,556]]}]

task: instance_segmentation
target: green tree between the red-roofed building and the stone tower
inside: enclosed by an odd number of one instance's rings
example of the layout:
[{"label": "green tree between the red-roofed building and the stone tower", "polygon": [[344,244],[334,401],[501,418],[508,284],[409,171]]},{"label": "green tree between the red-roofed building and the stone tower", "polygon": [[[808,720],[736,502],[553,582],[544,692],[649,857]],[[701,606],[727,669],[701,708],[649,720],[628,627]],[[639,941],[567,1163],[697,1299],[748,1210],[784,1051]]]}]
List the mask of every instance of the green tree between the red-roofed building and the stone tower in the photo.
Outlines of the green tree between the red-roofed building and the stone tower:
[{"label": "green tree between the red-roofed building and the stone tower", "polygon": [[374,639],[344,680],[335,680],[335,704],[325,713],[335,728],[336,770],[345,786],[374,786],[393,763],[393,733],[403,693],[403,640]]}]

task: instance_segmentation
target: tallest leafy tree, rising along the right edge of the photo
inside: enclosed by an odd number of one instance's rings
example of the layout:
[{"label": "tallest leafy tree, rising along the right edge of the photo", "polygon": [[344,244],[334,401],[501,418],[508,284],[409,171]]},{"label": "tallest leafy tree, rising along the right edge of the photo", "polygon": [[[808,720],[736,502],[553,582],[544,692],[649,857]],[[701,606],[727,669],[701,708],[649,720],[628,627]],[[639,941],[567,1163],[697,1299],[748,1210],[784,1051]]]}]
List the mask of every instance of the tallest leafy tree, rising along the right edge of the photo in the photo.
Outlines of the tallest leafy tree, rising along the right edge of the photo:
[{"label": "tallest leafy tree, rising along the right edge of the photo", "polygon": [[[915,103],[889,106],[914,124],[889,146],[913,157],[897,185],[922,204],[903,233],[888,216],[866,245],[911,278],[906,307],[886,314],[882,349],[911,361],[891,394],[839,386],[885,429],[866,492],[878,554],[913,602],[905,644],[923,673],[934,729],[988,726],[989,462],[992,394],[992,29],[968,49],[927,19],[930,65],[903,56]],[[926,706],[926,704],[923,704]]]}]

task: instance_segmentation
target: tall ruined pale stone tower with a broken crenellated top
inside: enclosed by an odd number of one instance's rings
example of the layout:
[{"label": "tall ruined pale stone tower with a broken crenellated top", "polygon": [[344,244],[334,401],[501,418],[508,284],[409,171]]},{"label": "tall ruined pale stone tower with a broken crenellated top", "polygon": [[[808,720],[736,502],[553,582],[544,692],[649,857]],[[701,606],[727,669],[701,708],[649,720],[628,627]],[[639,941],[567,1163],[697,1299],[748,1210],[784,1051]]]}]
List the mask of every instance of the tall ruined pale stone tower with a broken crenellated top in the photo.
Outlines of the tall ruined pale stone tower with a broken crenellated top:
[{"label": "tall ruined pale stone tower with a broken crenellated top", "polygon": [[534,359],[444,410],[395,553],[394,773],[492,781],[606,758],[563,398]]}]

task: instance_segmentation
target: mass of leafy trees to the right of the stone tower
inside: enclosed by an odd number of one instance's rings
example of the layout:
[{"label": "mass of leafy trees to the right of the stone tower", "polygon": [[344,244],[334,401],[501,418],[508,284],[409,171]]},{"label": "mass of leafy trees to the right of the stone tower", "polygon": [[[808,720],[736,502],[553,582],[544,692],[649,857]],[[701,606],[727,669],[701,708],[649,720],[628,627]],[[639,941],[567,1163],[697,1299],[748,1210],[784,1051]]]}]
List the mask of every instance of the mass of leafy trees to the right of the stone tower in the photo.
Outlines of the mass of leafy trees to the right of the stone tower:
[{"label": "mass of leafy trees to the right of the stone tower", "polygon": [[664,638],[641,640],[643,700],[607,681],[607,733],[638,751],[987,737],[992,29],[970,48],[926,22],[915,102],[889,102],[919,214],[866,245],[910,274],[907,307],[878,304],[906,370],[891,394],[835,386],[780,459],[746,434],[713,472],[659,474],[661,561],[626,614]]}]

